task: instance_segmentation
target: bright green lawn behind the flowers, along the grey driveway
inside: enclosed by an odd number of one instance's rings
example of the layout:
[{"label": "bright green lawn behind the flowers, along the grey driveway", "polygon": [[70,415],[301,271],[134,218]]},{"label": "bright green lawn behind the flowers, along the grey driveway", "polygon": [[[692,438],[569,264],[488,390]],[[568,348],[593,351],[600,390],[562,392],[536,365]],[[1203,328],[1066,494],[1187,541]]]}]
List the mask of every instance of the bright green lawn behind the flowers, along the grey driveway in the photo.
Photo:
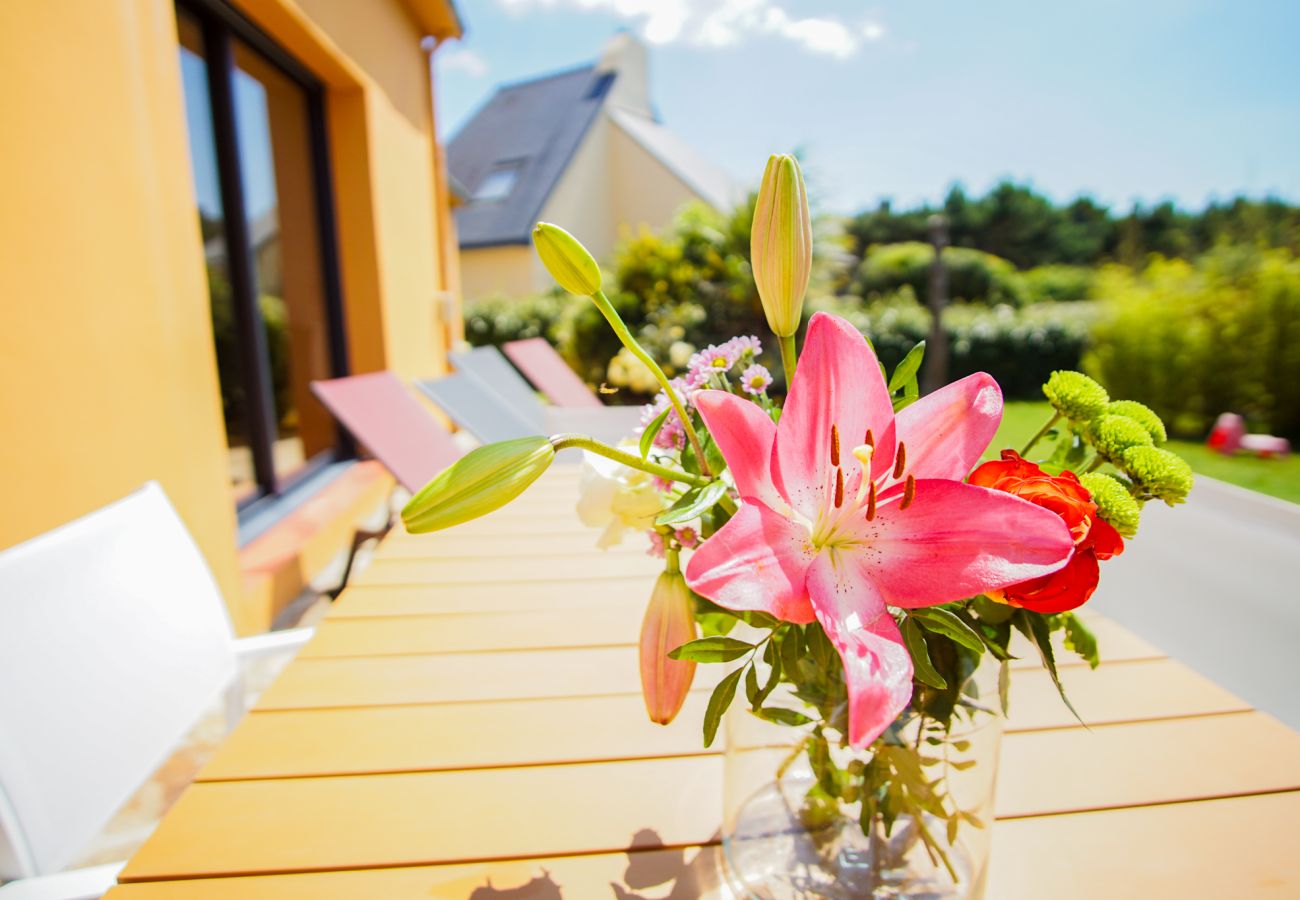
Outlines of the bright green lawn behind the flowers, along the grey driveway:
[{"label": "bright green lawn behind the flowers, along the grey driveway", "polygon": [[[1019,450],[1050,415],[1052,407],[1046,403],[1009,402],[1002,415],[1002,427],[989,445],[987,457],[996,458],[1002,447]],[[1225,457],[1204,443],[1191,441],[1170,441],[1167,446],[1191,463],[1195,472],[1300,503],[1300,455],[1295,453],[1284,459],[1260,459]]]}]

